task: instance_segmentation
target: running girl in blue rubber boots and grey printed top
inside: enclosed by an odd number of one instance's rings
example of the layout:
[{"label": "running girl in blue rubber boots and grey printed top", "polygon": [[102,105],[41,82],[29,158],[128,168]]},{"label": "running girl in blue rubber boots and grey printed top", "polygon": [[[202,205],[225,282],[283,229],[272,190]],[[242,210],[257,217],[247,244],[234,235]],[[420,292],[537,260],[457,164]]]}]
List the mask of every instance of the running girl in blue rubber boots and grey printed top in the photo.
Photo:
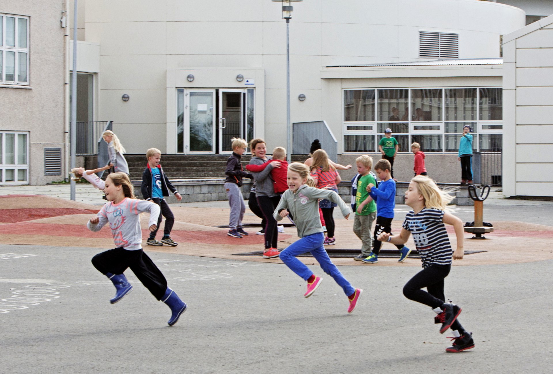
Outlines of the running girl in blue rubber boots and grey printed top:
[{"label": "running girl in blue rubber boots and grey printed top", "polygon": [[169,326],[173,326],[186,311],[186,303],[167,287],[167,280],[155,266],[152,259],[142,251],[142,230],[140,230],[139,214],[150,213],[148,222],[150,231],[157,228],[159,206],[151,201],[134,199],[133,186],[127,174],[112,173],[106,178],[104,189],[108,202],[102,206],[98,215],[87,223],[91,231],[100,231],[109,224],[113,240],[117,248],[98,253],[92,257],[92,264],[98,271],[105,274],[113,282],[117,292],[109,300],[115,304],[124,295],[131,292],[133,286],[123,272],[131,268],[135,276],[158,300],[163,301],[171,309]]}]

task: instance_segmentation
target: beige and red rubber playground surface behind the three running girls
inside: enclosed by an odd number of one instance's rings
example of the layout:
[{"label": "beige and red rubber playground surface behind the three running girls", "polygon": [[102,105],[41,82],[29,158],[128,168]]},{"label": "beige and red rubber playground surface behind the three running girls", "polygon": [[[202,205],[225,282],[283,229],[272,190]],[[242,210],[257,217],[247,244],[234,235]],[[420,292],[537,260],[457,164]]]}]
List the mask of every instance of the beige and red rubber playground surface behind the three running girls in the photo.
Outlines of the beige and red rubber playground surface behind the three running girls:
[{"label": "beige and red rubber playground surface behind the three running girls", "polygon": [[[17,245],[45,245],[59,247],[113,248],[109,228],[92,232],[86,222],[95,215],[100,206],[89,205],[45,195],[0,195],[0,243]],[[171,237],[179,245],[176,247],[147,246],[145,250],[189,254],[192,256],[239,259],[281,263],[277,259],[236,256],[234,253],[263,250],[263,236],[255,235],[259,227],[246,228],[251,235],[233,238],[227,235],[228,229],[215,226],[227,225],[229,209],[218,207],[171,207],[175,215],[175,225]],[[143,238],[148,237],[148,215],[142,215]],[[260,220],[246,210],[244,223],[258,223]],[[393,232],[400,231],[402,219],[393,223]],[[289,223],[287,219],[282,222]],[[158,239],[163,232],[161,223]],[[465,240],[465,251],[486,251],[467,254],[462,261],[454,261],[455,266],[508,264],[553,259],[553,227],[526,224],[517,221],[494,221],[495,231],[486,234],[491,240]],[[353,220],[336,219],[336,246],[334,248],[354,249],[361,247],[361,241],[353,234]],[[448,227],[450,240],[455,248],[455,233]],[[472,234],[465,233],[465,238]],[[298,240],[295,228],[285,228],[279,234],[279,248],[285,248]],[[414,248],[412,238],[406,245]],[[332,249],[334,249],[332,248]],[[394,248],[384,243],[383,248]],[[93,251],[96,252],[96,251]],[[92,253],[92,252],[91,252]],[[300,257],[306,264],[317,264],[309,257]],[[378,264],[365,264],[352,258],[333,258],[337,265],[348,266],[421,266],[420,259],[408,258],[398,263],[394,258],[381,258]]]}]

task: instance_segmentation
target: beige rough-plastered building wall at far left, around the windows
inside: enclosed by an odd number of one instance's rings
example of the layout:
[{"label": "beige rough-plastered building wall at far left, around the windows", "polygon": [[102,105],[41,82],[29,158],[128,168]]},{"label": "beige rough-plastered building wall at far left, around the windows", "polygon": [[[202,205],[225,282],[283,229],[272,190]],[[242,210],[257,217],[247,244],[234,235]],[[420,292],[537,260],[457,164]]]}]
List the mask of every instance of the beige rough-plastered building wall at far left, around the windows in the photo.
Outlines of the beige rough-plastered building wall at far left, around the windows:
[{"label": "beige rough-plastered building wall at far left, around the windows", "polygon": [[[0,13],[29,20],[29,85],[0,85],[0,130],[29,132],[29,184],[64,179],[66,29],[61,0],[3,0]],[[44,148],[62,149],[61,175],[44,175]]]}]

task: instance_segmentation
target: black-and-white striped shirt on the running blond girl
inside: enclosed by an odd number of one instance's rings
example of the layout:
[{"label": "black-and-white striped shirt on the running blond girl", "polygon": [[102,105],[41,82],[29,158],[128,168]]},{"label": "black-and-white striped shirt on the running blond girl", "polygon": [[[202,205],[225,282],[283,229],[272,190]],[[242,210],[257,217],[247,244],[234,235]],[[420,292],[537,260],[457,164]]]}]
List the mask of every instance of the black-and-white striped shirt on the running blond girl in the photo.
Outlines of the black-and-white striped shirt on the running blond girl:
[{"label": "black-and-white striped shirt on the running blond girl", "polygon": [[444,213],[443,210],[426,207],[417,214],[411,210],[401,225],[413,234],[423,268],[433,264],[451,264],[453,250],[444,225]]}]

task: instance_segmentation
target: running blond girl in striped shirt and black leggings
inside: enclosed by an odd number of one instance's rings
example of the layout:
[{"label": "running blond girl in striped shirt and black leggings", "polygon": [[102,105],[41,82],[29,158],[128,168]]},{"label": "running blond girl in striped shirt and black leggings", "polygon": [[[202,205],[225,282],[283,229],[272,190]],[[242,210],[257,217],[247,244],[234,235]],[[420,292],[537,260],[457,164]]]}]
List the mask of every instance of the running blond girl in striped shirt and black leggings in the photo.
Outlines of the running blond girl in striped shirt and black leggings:
[{"label": "running blond girl in striped shirt and black leggings", "polygon": [[[447,347],[446,352],[461,352],[474,348],[474,341],[472,333],[463,329],[457,320],[461,307],[445,302],[444,280],[451,269],[451,257],[462,259],[465,253],[463,222],[445,211],[447,203],[452,199],[453,196],[440,190],[432,179],[424,175],[415,176],[409,183],[409,189],[405,191],[405,204],[413,210],[405,217],[400,234],[390,236],[383,232],[378,240],[404,244],[410,234],[413,234],[423,269],[405,284],[403,294],[408,299],[432,308],[437,314],[435,323],[441,323],[440,333],[445,333],[449,328],[453,330],[453,345]],[[444,224],[455,228],[455,252],[451,249]],[[425,287],[427,291],[422,290]]]}]

